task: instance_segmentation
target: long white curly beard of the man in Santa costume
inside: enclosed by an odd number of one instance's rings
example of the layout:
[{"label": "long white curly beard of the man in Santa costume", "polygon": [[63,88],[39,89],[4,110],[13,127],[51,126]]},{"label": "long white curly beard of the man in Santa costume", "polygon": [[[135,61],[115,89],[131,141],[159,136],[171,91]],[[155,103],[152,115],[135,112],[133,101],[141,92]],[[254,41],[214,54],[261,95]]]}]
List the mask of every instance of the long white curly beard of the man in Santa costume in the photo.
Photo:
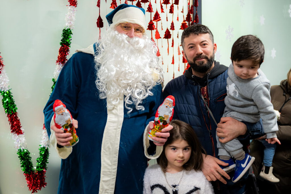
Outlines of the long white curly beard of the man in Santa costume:
[{"label": "long white curly beard of the man in Santa costume", "polygon": [[150,90],[163,81],[157,47],[147,36],[129,38],[111,27],[98,43],[95,83],[99,97],[107,98],[110,109],[119,102],[120,96],[124,96],[128,114],[132,111],[131,104],[143,111],[142,100],[153,95]]}]

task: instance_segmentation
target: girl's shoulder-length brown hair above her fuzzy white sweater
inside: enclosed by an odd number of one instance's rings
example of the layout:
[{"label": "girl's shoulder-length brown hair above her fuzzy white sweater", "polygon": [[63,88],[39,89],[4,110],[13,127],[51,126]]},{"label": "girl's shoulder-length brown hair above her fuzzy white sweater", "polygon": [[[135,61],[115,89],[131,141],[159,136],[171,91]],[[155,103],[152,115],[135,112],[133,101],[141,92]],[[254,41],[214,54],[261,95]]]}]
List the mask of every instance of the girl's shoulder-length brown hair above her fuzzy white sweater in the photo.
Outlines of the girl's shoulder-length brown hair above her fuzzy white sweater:
[{"label": "girl's shoulder-length brown hair above her fuzzy white sweater", "polygon": [[[203,164],[203,156],[201,150],[205,153],[205,150],[201,146],[197,135],[195,134],[193,128],[180,120],[172,120],[170,124],[173,129],[169,131],[170,137],[166,141],[164,148],[173,143],[175,140],[185,140],[191,147],[191,155],[189,160],[183,165],[185,170],[201,170]],[[166,172],[168,166],[168,160],[165,155],[165,149],[163,149],[162,154],[157,158],[157,163],[160,165],[163,172]]]}]

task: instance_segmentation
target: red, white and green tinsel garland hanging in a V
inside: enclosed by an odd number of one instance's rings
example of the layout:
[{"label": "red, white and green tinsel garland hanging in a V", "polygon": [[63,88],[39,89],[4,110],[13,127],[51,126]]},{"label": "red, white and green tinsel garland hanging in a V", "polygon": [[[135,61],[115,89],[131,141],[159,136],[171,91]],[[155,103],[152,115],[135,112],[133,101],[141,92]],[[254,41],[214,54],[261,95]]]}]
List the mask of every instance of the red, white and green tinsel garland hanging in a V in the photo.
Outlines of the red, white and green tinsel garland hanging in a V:
[{"label": "red, white and green tinsel garland hanging in a V", "polygon": [[[54,89],[54,85],[56,83],[59,72],[67,61],[66,57],[69,54],[69,47],[71,44],[71,29],[74,26],[74,16],[76,13],[77,1],[68,0],[68,2],[70,5],[68,6],[69,11],[66,15],[67,24],[65,29],[63,29],[62,39],[60,42],[61,47],[59,49],[58,59],[56,61],[57,68],[54,72],[52,90]],[[36,193],[38,192],[38,190],[41,190],[42,187],[45,187],[47,185],[47,183],[45,182],[45,173],[47,170],[47,163],[49,158],[49,138],[45,125],[43,125],[42,140],[40,142],[39,148],[39,157],[36,159],[36,167],[33,168],[30,152],[27,149],[26,141],[24,138],[24,129],[21,126],[17,113],[17,106],[13,99],[11,89],[9,89],[8,81],[8,76],[6,75],[4,70],[3,58],[1,57],[0,53],[0,93],[3,97],[2,105],[8,117],[10,131],[13,136],[15,148],[17,149],[18,158],[20,159],[21,168],[24,172],[23,174],[26,178],[29,191],[32,191],[32,193]]]}]

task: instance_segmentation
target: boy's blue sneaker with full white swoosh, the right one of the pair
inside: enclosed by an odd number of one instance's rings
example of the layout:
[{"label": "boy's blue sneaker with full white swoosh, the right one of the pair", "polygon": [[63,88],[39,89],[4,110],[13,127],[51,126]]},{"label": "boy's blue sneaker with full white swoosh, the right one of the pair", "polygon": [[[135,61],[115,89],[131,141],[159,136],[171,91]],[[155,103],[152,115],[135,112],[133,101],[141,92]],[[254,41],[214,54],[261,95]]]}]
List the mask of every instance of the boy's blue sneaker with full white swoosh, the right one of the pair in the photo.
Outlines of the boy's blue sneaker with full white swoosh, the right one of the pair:
[{"label": "boy's blue sneaker with full white swoosh, the right one of the pair", "polygon": [[251,167],[252,163],[255,161],[255,157],[245,154],[243,160],[236,160],[235,173],[233,175],[232,181],[237,182],[242,176],[246,173],[247,170]]}]

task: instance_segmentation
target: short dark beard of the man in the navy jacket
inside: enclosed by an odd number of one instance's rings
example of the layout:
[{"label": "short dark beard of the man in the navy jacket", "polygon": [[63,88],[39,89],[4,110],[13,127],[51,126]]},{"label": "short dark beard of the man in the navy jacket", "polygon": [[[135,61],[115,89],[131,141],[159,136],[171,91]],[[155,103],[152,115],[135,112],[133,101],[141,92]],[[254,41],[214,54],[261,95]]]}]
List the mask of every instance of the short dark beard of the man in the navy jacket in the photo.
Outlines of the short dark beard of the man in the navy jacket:
[{"label": "short dark beard of the man in the navy jacket", "polygon": [[[199,58],[205,58],[206,59],[206,63],[204,63],[204,61],[199,61],[199,65],[197,65],[195,63],[195,60],[199,59]],[[190,67],[192,67],[192,69],[196,72],[199,72],[199,73],[205,73],[207,72],[210,67],[212,66],[213,64],[213,61],[214,61],[214,51],[213,51],[213,54],[212,56],[210,56],[210,58],[208,58],[206,55],[199,55],[199,56],[196,56],[194,59],[193,59],[193,62],[190,62],[188,60],[188,58],[186,57]]]}]

